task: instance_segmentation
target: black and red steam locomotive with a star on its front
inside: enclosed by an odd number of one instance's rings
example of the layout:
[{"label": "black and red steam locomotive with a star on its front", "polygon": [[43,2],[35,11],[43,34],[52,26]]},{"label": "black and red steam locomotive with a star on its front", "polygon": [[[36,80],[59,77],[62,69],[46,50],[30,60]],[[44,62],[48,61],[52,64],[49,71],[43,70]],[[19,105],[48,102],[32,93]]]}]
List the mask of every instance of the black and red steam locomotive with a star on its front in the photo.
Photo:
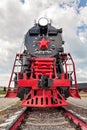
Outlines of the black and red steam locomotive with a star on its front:
[{"label": "black and red steam locomotive with a star on its front", "polygon": [[79,98],[74,61],[63,45],[62,28],[40,18],[25,35],[23,53],[16,54],[6,96],[19,97],[26,107],[66,106],[69,96]]}]

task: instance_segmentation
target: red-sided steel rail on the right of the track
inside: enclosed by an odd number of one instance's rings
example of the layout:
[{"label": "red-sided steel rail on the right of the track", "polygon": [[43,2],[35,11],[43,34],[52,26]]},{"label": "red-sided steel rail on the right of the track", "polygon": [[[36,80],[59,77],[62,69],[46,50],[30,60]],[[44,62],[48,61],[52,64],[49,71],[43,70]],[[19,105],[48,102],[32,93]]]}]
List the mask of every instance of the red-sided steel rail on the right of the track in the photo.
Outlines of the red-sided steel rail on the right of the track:
[{"label": "red-sided steel rail on the right of the track", "polygon": [[77,117],[75,114],[65,110],[65,115],[69,118],[72,119],[72,121],[77,125],[80,126],[82,130],[87,130],[87,123]]}]

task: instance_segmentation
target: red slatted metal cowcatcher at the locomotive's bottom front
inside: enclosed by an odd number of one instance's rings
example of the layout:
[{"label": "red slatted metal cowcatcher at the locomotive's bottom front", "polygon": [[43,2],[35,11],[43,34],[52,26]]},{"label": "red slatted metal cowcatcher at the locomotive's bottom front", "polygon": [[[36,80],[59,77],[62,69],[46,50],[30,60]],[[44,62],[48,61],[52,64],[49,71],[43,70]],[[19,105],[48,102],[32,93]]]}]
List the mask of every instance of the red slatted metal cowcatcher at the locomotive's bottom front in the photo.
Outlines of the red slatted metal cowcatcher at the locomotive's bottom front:
[{"label": "red slatted metal cowcatcher at the locomotive's bottom front", "polygon": [[[35,92],[35,93],[34,93]],[[67,106],[64,97],[56,90],[31,90],[26,98],[21,103],[21,106],[26,107],[58,107]]]}]

